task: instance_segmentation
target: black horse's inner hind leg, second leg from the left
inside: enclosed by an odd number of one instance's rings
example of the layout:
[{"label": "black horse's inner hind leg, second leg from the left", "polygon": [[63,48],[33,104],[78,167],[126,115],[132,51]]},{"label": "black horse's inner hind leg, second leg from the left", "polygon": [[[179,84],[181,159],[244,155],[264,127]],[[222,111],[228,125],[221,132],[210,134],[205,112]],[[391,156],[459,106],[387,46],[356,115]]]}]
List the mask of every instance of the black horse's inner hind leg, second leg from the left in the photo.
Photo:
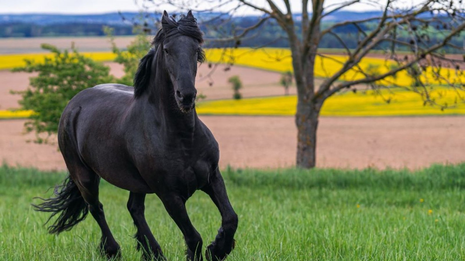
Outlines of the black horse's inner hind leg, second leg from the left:
[{"label": "black horse's inner hind leg, second leg from the left", "polygon": [[165,257],[163,256],[160,245],[155,240],[155,237],[153,237],[145,219],[145,197],[146,194],[130,192],[129,200],[127,201],[127,210],[131,213],[134,225],[137,228],[135,235],[137,250],[142,248],[146,260],[164,260]]}]

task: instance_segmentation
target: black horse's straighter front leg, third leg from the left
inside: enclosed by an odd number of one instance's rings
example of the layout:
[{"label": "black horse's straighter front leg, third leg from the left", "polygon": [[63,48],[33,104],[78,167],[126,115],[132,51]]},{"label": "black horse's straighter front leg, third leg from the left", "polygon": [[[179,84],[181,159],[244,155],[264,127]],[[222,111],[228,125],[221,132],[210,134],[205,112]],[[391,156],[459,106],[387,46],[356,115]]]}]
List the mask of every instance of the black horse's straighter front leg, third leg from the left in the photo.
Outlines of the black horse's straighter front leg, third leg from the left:
[{"label": "black horse's straighter front leg, third leg from the left", "polygon": [[202,261],[202,237],[200,237],[199,232],[194,228],[187,215],[186,201],[175,193],[160,196],[160,199],[165,205],[166,211],[168,211],[168,214],[184,235],[187,245],[187,260]]}]

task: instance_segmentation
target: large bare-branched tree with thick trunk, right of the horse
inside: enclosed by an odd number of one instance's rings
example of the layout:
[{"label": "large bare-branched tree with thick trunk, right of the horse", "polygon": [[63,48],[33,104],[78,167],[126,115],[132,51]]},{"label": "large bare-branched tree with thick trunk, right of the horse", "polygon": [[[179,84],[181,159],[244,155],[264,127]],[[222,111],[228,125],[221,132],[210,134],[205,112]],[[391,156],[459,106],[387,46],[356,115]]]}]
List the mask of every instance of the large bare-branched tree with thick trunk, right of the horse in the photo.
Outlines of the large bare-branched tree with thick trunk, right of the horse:
[{"label": "large bare-branched tree with thick trunk, right of the horse", "polygon": [[[277,22],[286,33],[289,42],[293,75],[298,92],[295,124],[298,129],[297,166],[299,167],[312,168],[315,166],[316,134],[321,107],[327,98],[339,91],[359,84],[382,88],[376,84],[379,80],[395,76],[398,72],[406,69],[412,70],[412,68],[418,68],[414,69],[414,74],[417,76],[431,72],[434,77],[441,78],[443,82],[454,87],[454,90],[465,91],[464,83],[449,81],[439,73],[439,69],[434,69],[443,66],[444,62],[448,62],[453,67],[457,67],[457,74],[462,75],[461,68],[463,67],[458,64],[463,63],[463,61],[448,58],[442,52],[446,46],[456,49],[462,48],[450,43],[451,39],[460,35],[465,28],[464,6],[461,0],[423,0],[413,7],[403,7],[399,0],[386,0],[383,4],[375,0],[347,0],[337,4],[326,4],[325,0],[311,0],[310,2],[302,0],[301,12],[299,13],[292,13],[292,4],[295,2],[291,0],[264,0],[262,1],[263,5],[256,4],[256,2],[252,0],[165,0],[157,2],[156,5],[159,8],[163,5],[179,9],[189,8],[199,12],[200,15],[201,13],[225,10],[228,7],[230,9],[224,13],[231,14],[243,7],[262,13],[261,19],[255,25],[239,28],[233,33],[229,32],[232,34],[229,37],[214,39],[218,42],[233,42],[234,46],[238,46],[240,39],[248,37],[250,32],[263,26],[267,20]],[[377,17],[338,22],[323,28],[322,20],[325,17],[346,7],[361,3],[380,7],[382,12],[379,12],[380,15]],[[219,13],[219,15],[222,14]],[[296,26],[297,16],[295,14],[299,15],[300,29],[296,29],[298,27]],[[376,23],[377,26],[368,30],[364,29],[366,28],[363,26],[365,23]],[[358,28],[359,40],[356,48],[350,49],[345,40],[340,38],[336,32],[338,28],[348,25]],[[439,42],[430,41],[428,37],[431,33],[430,30],[435,27],[441,29],[436,30],[436,33],[442,34],[442,39]],[[345,47],[347,59],[343,62],[338,61],[341,64],[340,69],[324,79],[319,86],[316,86],[316,58],[321,56],[325,59],[331,59],[330,56],[317,52],[319,42],[325,35],[331,35]],[[399,37],[400,35],[403,37]],[[365,72],[359,65],[361,59],[373,49],[379,49],[380,46],[389,46],[385,48],[386,57],[394,60],[397,65],[383,73]],[[402,47],[408,50],[409,54],[399,55],[397,50]],[[433,69],[426,70],[426,65],[433,67]],[[352,80],[342,78],[346,72],[351,70],[359,72],[363,77]],[[416,78],[419,81],[416,86],[400,87],[419,93],[425,104],[438,105],[441,108],[447,106],[447,104],[435,104],[435,100],[429,95],[430,88],[427,88],[429,87],[427,81],[421,77]],[[391,86],[396,85],[392,84]],[[458,97],[462,96],[458,95]]]}]

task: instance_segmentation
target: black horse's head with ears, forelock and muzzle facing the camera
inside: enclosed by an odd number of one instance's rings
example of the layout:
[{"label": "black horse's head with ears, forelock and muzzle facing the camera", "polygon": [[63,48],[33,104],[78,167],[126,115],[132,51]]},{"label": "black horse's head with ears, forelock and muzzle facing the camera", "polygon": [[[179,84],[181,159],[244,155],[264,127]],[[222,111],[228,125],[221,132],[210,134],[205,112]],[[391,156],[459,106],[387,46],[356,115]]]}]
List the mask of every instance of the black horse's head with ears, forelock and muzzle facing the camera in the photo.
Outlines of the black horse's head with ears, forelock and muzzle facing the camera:
[{"label": "black horse's head with ears, forelock and muzzle facing the camera", "polygon": [[[138,95],[138,87],[148,85],[149,76],[144,77],[147,69],[150,69],[155,54],[162,59],[166,73],[173,83],[172,93],[179,110],[189,112],[195,106],[195,76],[197,63],[205,60],[205,53],[201,46],[203,42],[202,32],[191,11],[187,15],[181,15],[178,21],[163,12],[161,28],[153,39],[154,48],[140,61],[138,72],[134,78],[135,95]],[[138,78],[145,78],[146,83],[138,83]],[[145,86],[143,86],[145,87]]]}]

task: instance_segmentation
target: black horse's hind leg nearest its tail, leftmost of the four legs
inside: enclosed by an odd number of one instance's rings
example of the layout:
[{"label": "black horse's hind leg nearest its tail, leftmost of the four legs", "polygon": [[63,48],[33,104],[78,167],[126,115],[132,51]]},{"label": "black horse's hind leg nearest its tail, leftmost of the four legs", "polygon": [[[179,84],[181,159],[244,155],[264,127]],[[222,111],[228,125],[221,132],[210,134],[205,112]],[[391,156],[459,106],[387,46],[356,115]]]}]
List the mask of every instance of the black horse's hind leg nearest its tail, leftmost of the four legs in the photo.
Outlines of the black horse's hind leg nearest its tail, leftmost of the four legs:
[{"label": "black horse's hind leg nearest its tail, leftmost of the four legs", "polygon": [[99,201],[100,177],[84,166],[76,168],[73,172],[70,170],[71,176],[78,185],[82,197],[89,205],[90,213],[102,230],[102,238],[99,245],[100,251],[107,258],[120,256],[120,246],[114,239],[110,228],[108,228],[103,212],[103,205]]}]

